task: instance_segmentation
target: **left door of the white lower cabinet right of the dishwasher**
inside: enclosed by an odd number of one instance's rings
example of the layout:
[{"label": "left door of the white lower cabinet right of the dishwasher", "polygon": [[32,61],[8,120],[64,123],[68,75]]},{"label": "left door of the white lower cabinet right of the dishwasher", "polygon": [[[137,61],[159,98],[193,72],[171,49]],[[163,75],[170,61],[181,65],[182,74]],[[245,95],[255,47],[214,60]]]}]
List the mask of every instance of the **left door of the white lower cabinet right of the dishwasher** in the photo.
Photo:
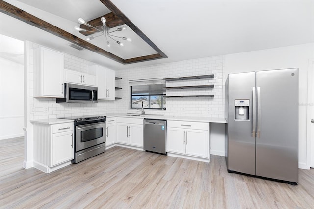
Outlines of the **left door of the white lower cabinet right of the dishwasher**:
[{"label": "left door of the white lower cabinet right of the dishwasher", "polygon": [[185,154],[185,130],[167,128],[167,152]]}]

